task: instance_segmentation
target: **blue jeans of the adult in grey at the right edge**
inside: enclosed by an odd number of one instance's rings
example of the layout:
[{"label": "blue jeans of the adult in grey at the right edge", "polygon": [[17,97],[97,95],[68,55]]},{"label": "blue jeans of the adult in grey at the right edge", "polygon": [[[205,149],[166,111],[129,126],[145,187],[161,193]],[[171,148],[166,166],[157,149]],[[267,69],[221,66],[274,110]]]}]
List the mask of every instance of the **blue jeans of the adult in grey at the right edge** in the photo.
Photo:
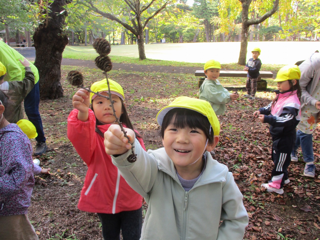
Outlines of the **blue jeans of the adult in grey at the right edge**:
[{"label": "blue jeans of the adult in grey at the right edge", "polygon": [[301,132],[300,130],[297,131],[297,138],[296,143],[293,147],[293,151],[291,155],[296,156],[297,149],[301,145],[302,155],[303,155],[303,161],[305,163],[313,162],[314,161],[314,155],[313,155],[313,145],[312,145],[312,133],[307,134],[304,132]]}]

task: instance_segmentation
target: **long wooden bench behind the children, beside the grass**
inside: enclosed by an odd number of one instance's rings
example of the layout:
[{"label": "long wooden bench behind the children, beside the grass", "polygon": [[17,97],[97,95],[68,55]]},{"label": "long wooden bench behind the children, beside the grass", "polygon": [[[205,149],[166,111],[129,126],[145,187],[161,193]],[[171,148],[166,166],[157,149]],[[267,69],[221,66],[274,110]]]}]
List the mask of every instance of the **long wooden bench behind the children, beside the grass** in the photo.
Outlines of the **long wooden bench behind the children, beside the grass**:
[{"label": "long wooden bench behind the children, beside the grass", "polygon": [[[220,71],[220,77],[247,77],[247,71],[237,71],[237,70],[221,70]],[[203,70],[196,70],[195,76],[199,77],[205,77],[204,71]],[[261,77],[268,77],[272,78],[273,73],[271,71],[260,71],[260,75],[258,77],[257,82],[261,82]],[[198,87],[201,86],[203,83],[204,78],[200,78]],[[258,83],[257,83],[258,84]],[[259,84],[258,84],[259,85]],[[261,85],[261,84],[260,84]],[[257,87],[258,90],[265,90],[267,89],[267,82],[262,84],[263,86]]]}]

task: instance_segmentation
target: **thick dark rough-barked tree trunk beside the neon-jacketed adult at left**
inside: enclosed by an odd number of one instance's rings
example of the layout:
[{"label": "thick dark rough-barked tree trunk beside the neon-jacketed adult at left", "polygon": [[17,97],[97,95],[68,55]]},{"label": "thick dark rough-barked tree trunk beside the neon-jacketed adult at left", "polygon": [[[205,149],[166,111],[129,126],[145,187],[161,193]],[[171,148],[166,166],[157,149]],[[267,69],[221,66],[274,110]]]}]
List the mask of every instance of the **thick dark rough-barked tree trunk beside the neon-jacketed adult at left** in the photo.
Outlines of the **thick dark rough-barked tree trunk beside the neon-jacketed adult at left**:
[{"label": "thick dark rough-barked tree trunk beside the neon-jacketed adult at left", "polygon": [[49,18],[40,24],[33,35],[36,48],[35,66],[39,71],[39,87],[41,99],[57,99],[63,97],[61,79],[62,52],[68,44],[68,36],[62,32],[67,12],[66,1],[55,0],[51,4]]}]

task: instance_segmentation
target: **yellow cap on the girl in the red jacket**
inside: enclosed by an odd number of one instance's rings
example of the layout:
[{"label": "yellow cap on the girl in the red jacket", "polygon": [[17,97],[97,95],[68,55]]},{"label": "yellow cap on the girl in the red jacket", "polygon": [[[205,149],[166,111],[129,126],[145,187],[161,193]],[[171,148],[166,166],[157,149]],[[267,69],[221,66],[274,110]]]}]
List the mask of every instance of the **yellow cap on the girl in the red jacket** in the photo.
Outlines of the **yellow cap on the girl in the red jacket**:
[{"label": "yellow cap on the girl in the red jacket", "polygon": [[[111,94],[116,94],[119,98],[124,100],[124,92],[121,85],[111,80],[110,78],[108,78],[108,80],[109,80]],[[105,79],[102,79],[101,81],[93,83],[90,89],[93,92],[99,92],[99,93],[108,92],[107,79],[105,78]],[[97,94],[94,94],[93,92],[90,92],[90,103],[92,103],[92,100],[97,96]]]}]

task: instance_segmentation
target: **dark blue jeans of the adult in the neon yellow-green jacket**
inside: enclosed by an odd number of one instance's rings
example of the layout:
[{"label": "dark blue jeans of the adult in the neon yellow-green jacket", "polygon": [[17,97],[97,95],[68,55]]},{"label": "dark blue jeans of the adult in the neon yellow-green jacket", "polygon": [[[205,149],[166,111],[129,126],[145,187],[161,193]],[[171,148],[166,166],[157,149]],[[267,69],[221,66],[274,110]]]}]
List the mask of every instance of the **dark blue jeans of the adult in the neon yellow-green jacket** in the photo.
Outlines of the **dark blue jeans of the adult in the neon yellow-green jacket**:
[{"label": "dark blue jeans of the adult in the neon yellow-green jacket", "polygon": [[39,82],[35,84],[33,89],[28,93],[24,99],[24,110],[29,121],[35,125],[38,136],[36,141],[45,142],[42,120],[39,113],[39,103],[40,103],[40,92],[39,92]]}]

